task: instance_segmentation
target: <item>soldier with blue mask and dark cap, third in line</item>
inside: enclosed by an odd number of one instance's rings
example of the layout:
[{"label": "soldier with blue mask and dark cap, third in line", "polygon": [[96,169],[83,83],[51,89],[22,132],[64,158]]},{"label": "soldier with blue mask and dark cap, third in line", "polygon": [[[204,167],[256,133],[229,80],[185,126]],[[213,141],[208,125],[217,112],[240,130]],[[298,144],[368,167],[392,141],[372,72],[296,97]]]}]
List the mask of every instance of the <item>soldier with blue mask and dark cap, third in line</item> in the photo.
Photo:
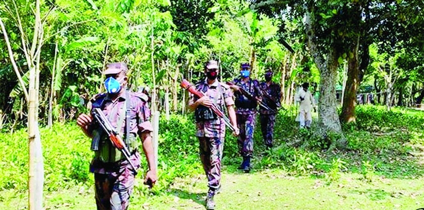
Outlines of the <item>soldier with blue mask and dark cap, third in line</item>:
[{"label": "soldier with blue mask and dark cap, third in line", "polygon": [[[253,131],[256,120],[257,100],[262,100],[262,93],[259,81],[250,79],[250,65],[241,65],[241,78],[234,80],[230,87],[235,91],[235,105],[237,125],[240,128],[239,150],[243,157],[243,162],[239,169],[244,172],[250,171],[250,158],[253,154]],[[249,99],[240,92],[240,88],[251,93],[254,99]]]}]

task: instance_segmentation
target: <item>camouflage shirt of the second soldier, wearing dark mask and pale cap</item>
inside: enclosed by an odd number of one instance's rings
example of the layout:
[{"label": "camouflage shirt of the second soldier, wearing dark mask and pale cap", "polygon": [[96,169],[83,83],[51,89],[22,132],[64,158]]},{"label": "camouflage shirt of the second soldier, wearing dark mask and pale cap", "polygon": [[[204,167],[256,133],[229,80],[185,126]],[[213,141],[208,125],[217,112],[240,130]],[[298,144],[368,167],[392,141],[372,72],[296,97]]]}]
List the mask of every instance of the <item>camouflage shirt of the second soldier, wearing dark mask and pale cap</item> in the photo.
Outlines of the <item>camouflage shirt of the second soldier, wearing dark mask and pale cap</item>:
[{"label": "camouflage shirt of the second soldier, wearing dark mask and pale cap", "polygon": [[[218,80],[213,84],[208,84],[207,80],[200,81],[195,84],[196,89],[202,92],[205,96],[208,96],[213,103],[215,103],[221,111],[224,113],[226,110],[225,106],[234,105],[233,91],[230,86]],[[193,94],[190,94],[189,104],[193,104],[199,98]],[[198,122],[196,123],[197,132],[196,136],[199,137],[224,137],[225,136],[225,123],[222,118],[217,120]]]}]

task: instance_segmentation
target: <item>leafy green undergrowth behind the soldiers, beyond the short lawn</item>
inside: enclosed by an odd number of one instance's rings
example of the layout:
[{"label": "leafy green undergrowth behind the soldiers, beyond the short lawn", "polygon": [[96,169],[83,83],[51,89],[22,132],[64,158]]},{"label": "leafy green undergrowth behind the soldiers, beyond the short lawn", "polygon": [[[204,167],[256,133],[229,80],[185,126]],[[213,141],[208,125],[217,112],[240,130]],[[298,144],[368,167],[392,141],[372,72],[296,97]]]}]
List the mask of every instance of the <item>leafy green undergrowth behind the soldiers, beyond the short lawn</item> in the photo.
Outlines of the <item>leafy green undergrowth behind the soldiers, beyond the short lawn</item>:
[{"label": "leafy green undergrowth behind the soldiers, beyond the short lawn", "polygon": [[[420,132],[424,126],[421,111],[387,111],[384,107],[360,106],[357,124],[345,127],[350,151],[327,154],[322,152],[328,145],[323,145],[307,130],[299,130],[294,123],[294,109],[280,111],[275,129],[277,147],[272,151],[265,150],[259,129],[255,131],[255,171],[282,168],[292,174],[328,178],[337,177],[337,171],[346,169],[364,173],[363,167],[368,165],[365,172],[372,170],[376,174],[395,177],[417,176],[423,171],[409,155],[414,145],[424,143]],[[160,133],[160,177],[156,192],[164,192],[176,177],[203,173],[192,115],[172,115],[169,121],[161,118]],[[91,186],[93,176],[88,171],[92,157],[90,140],[79,127],[72,123],[56,124],[52,129],[43,128],[42,135],[45,190],[56,191],[75,184]],[[27,179],[22,175],[28,170],[26,130],[0,133],[0,139],[0,189],[26,190]],[[223,161],[224,170],[233,172],[241,161],[237,139],[230,133],[226,137]],[[144,158],[143,163],[145,170]],[[142,170],[140,174],[143,173]],[[139,186],[137,189],[144,188]]]}]

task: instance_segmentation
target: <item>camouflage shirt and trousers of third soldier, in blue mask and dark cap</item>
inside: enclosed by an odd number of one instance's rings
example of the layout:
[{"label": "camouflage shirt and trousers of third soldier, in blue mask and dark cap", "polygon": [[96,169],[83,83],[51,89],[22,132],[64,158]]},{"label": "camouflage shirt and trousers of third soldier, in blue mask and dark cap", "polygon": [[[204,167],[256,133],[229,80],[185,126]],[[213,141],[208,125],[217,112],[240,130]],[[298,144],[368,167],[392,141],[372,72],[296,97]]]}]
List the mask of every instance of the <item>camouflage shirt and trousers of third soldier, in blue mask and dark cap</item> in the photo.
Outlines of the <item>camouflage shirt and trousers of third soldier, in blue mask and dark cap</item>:
[{"label": "camouflage shirt and trousers of third soldier, in blue mask and dark cap", "polygon": [[[245,83],[240,79],[236,79],[232,83],[239,85],[253,96],[257,97],[262,95],[259,87],[259,81],[257,80],[250,79],[247,83]],[[239,151],[243,157],[251,157],[253,154],[253,131],[255,128],[256,120],[256,105],[254,105],[254,102],[251,104],[251,108],[244,108],[240,101],[247,101],[247,98],[240,92],[236,92],[235,97],[237,125],[240,128],[238,141]]]}]

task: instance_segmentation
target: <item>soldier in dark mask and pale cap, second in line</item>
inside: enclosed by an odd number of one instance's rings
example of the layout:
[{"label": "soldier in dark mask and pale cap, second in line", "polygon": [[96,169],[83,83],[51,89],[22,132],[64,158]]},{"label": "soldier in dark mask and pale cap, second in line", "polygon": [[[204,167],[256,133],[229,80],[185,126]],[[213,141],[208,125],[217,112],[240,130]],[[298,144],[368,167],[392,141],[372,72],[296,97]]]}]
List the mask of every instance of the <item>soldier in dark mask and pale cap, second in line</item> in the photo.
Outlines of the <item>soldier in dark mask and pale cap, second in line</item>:
[{"label": "soldier in dark mask and pale cap, second in line", "polygon": [[213,210],[214,195],[221,187],[221,160],[224,148],[225,123],[209,109],[215,104],[225,113],[227,107],[230,121],[236,128],[234,135],[239,134],[234,111],[233,92],[227,84],[216,78],[219,73],[218,62],[211,60],[205,66],[206,78],[195,84],[195,88],[204,93],[201,98],[191,95],[188,106],[195,110],[196,136],[199,139],[200,160],[208,178],[209,191],[206,196],[206,209]]}]

